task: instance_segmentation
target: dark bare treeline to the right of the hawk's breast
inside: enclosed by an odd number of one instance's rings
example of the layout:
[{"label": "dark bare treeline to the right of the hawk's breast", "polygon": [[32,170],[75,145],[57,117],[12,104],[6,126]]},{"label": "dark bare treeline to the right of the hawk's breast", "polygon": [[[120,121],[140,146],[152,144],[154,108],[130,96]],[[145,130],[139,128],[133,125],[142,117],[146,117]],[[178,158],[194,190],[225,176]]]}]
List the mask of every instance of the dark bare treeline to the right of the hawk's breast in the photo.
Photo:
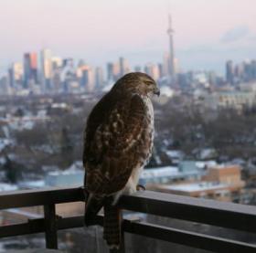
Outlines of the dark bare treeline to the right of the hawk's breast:
[{"label": "dark bare treeline to the right of the hawk's breast", "polygon": [[[251,158],[256,155],[256,111],[206,111],[194,104],[170,101],[157,123],[159,138],[171,139],[170,148],[192,155],[196,149],[215,148],[219,156]],[[167,131],[167,134],[166,134]],[[165,136],[161,136],[165,132]]]}]

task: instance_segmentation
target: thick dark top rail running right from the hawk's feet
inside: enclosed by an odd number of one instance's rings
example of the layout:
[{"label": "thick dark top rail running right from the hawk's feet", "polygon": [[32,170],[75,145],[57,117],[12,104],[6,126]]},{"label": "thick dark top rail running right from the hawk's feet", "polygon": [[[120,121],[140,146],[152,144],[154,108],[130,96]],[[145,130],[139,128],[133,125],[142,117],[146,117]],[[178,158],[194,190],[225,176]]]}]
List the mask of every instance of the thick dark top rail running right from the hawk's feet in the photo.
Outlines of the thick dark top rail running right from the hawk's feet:
[{"label": "thick dark top rail running right from the hawk's feet", "polygon": [[256,206],[150,191],[123,195],[120,206],[135,212],[256,232]]}]

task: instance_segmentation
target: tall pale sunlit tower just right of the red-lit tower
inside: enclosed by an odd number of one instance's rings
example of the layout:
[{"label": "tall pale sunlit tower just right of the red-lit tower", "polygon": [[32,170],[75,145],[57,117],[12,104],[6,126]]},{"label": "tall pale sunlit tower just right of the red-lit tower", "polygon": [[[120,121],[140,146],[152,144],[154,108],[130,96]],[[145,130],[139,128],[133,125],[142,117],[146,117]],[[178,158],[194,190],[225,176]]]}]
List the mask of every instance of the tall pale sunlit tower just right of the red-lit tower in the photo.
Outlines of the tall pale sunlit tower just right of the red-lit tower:
[{"label": "tall pale sunlit tower just right of the red-lit tower", "polygon": [[42,86],[44,90],[50,90],[51,77],[52,77],[52,62],[51,52],[49,49],[43,49],[41,51],[41,74],[42,74]]}]

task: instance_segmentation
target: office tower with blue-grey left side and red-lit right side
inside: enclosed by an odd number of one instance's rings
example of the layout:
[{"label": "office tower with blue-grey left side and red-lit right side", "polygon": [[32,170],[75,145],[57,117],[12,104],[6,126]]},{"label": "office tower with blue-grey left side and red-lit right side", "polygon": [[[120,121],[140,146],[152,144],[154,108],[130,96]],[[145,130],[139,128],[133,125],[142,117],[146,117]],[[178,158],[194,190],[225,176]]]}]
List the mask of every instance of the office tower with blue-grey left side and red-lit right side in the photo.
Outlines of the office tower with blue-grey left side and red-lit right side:
[{"label": "office tower with blue-grey left side and red-lit right side", "polygon": [[24,86],[37,83],[37,53],[26,53],[24,55]]}]

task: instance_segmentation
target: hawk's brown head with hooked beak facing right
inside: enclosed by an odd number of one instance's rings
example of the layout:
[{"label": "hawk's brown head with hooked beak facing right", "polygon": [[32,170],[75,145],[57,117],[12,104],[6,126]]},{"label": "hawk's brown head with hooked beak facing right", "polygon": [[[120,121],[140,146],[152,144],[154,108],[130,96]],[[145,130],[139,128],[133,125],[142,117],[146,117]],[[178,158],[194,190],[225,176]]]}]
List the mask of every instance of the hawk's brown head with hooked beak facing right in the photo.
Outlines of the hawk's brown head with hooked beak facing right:
[{"label": "hawk's brown head with hooked beak facing right", "polygon": [[113,89],[134,92],[144,96],[160,95],[160,90],[155,80],[141,72],[124,75],[123,78],[116,82]]}]

